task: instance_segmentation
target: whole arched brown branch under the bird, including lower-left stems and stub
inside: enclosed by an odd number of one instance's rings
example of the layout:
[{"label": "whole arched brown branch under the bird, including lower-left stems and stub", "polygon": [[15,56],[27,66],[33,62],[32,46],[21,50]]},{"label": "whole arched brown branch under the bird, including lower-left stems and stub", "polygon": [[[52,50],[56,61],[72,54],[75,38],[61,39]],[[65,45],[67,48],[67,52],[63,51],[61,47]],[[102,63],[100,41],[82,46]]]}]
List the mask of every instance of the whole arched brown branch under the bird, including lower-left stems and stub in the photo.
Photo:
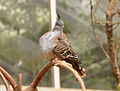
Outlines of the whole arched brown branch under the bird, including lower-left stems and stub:
[{"label": "whole arched brown branch under the bird, including lower-left stems and stub", "polygon": [[53,62],[48,62],[40,70],[40,72],[35,77],[35,79],[33,80],[33,82],[26,89],[23,89],[23,90],[22,90],[22,74],[18,75],[18,81],[17,81],[17,84],[16,84],[16,82],[14,81],[14,79],[0,66],[0,76],[1,76],[3,82],[4,82],[5,86],[6,86],[7,91],[11,91],[10,88],[9,88],[9,85],[7,83],[7,80],[12,85],[12,87],[14,89],[13,91],[38,91],[37,90],[38,83],[44,77],[45,73],[48,72],[48,70],[52,66],[54,66],[54,65],[62,67],[62,68],[65,68],[65,69],[69,70],[70,72],[72,72],[72,74],[76,77],[77,81],[79,82],[79,84],[80,84],[80,86],[82,88],[82,91],[86,91],[85,84],[84,84],[84,82],[82,80],[82,77],[78,74],[78,72],[75,69],[73,69],[73,67],[69,63],[67,63],[65,61],[59,61],[59,60],[57,60],[54,63]]}]

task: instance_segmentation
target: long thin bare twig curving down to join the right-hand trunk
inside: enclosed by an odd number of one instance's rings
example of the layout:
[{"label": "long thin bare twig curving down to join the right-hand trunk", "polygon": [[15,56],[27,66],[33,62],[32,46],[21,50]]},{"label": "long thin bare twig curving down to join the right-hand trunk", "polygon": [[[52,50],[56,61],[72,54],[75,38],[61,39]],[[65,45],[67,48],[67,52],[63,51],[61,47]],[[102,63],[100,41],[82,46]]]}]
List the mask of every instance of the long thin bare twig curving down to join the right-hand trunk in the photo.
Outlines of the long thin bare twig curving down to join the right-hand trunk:
[{"label": "long thin bare twig curving down to join the right-hand trunk", "polygon": [[92,0],[90,0],[90,7],[91,7],[91,25],[92,25],[92,28],[93,28],[93,29],[92,29],[92,30],[93,30],[93,33],[94,33],[94,35],[95,35],[95,38],[96,38],[96,40],[97,40],[100,48],[101,48],[102,51],[103,51],[103,53],[104,53],[105,56],[109,59],[110,57],[109,57],[108,53],[107,53],[106,50],[104,49],[102,43],[101,43],[100,40],[98,39],[98,36],[97,36],[97,34],[96,34],[96,32],[95,32],[95,27],[94,27],[94,23],[93,23],[93,6],[92,6]]}]

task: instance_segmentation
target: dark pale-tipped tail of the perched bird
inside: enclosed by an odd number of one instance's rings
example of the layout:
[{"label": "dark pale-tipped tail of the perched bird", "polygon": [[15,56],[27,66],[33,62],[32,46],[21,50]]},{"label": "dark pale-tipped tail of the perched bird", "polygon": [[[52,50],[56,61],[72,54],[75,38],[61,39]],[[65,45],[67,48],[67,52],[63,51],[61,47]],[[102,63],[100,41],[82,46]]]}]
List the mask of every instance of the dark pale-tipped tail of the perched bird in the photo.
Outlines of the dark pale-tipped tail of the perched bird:
[{"label": "dark pale-tipped tail of the perched bird", "polygon": [[81,77],[86,76],[85,68],[79,65],[80,62],[77,58],[69,57],[69,58],[66,58],[65,61],[70,63]]}]

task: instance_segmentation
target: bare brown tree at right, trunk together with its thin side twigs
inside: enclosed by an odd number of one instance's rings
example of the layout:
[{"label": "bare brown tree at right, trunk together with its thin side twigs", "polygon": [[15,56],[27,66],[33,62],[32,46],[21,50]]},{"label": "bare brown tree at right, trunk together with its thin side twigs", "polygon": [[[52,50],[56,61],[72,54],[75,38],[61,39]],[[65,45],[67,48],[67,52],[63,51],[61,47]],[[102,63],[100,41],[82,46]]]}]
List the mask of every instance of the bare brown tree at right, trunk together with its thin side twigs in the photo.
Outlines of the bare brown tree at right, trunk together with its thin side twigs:
[{"label": "bare brown tree at right, trunk together with its thin side twigs", "polygon": [[96,40],[98,41],[100,47],[102,48],[104,54],[109,59],[112,73],[113,73],[116,81],[118,82],[118,85],[120,86],[120,72],[119,72],[119,67],[118,67],[118,62],[117,62],[116,48],[115,48],[114,36],[113,36],[113,30],[114,30],[113,26],[116,25],[116,24],[119,25],[119,22],[113,24],[113,21],[112,21],[113,16],[115,15],[115,13],[114,13],[115,0],[109,0],[107,11],[104,11],[104,9],[102,8],[102,6],[99,4],[99,2],[97,0],[96,0],[96,3],[103,10],[103,12],[106,14],[105,28],[106,28],[106,35],[107,35],[107,42],[108,42],[108,54],[104,50],[103,46],[101,45],[101,43],[99,42],[99,40],[97,38],[97,35],[96,35],[96,32],[95,32],[95,27],[94,27],[94,24],[93,24],[92,0],[90,0],[90,5],[91,5],[91,23],[92,23],[92,27],[93,27],[93,30],[94,30],[93,32],[94,32],[94,35],[96,37]]}]

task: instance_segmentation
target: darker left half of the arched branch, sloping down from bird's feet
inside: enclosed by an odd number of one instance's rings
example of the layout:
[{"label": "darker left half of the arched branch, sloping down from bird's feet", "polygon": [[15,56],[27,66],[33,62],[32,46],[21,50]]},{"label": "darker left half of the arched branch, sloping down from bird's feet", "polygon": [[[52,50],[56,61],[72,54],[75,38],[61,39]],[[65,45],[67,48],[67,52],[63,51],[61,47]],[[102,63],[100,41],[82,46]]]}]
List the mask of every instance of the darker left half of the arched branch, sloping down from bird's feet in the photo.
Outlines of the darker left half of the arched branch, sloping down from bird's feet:
[{"label": "darker left half of the arched branch, sloping down from bird's feet", "polygon": [[53,66],[51,62],[48,62],[37,74],[37,76],[34,78],[33,82],[31,83],[31,86],[33,88],[36,88],[38,86],[38,83],[40,80],[44,77],[45,73]]}]

